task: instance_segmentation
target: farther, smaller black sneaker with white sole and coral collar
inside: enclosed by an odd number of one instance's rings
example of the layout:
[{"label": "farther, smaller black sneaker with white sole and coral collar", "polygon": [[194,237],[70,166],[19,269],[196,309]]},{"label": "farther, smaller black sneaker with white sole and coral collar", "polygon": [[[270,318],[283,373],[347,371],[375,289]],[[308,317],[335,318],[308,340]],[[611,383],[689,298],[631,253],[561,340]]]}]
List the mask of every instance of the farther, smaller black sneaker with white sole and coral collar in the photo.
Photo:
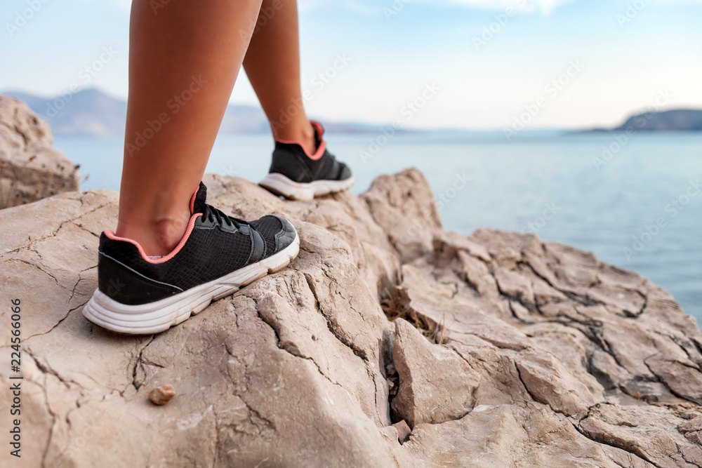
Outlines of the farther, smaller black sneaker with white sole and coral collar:
[{"label": "farther, smaller black sneaker with white sole and coral collar", "polygon": [[355,182],[351,170],[326,150],[322,124],[311,123],[317,151],[310,154],[298,142],[276,141],[273,162],[259,183],[261,187],[293,200],[311,200],[351,188]]}]

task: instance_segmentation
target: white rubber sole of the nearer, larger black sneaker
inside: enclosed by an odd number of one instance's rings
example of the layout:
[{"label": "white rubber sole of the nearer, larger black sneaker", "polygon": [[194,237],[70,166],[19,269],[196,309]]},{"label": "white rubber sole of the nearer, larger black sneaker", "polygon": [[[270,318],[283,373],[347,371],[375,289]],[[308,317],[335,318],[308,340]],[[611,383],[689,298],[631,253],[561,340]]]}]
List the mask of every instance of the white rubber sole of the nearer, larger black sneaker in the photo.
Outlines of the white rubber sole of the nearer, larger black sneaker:
[{"label": "white rubber sole of the nearer, larger black sneaker", "polygon": [[293,243],[269,258],[150,304],[124,305],[95,290],[83,308],[83,315],[96,325],[118,333],[159,333],[201,312],[213,300],[236,293],[239,288],[283,269],[297,257],[299,251],[300,237],[296,235]]}]

